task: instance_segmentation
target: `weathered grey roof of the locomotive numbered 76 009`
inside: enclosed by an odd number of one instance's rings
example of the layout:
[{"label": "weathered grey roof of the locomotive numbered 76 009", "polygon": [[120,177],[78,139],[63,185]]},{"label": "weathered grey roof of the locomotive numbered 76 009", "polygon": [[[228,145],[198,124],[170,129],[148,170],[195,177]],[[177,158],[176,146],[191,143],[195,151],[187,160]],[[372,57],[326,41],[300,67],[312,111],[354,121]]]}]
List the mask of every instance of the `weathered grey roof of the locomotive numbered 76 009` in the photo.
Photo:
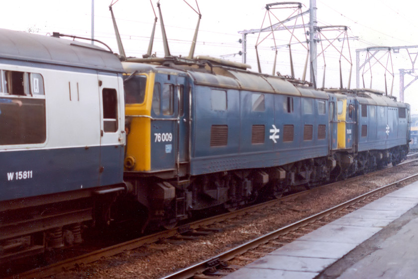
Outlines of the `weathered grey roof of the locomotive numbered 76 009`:
[{"label": "weathered grey roof of the locomotive numbered 76 009", "polygon": [[198,85],[328,99],[327,94],[323,91],[314,90],[309,87],[297,87],[283,77],[259,74],[233,67],[213,65],[175,65],[175,67],[166,67],[159,64],[135,62],[122,62],[122,65],[128,74],[134,72],[158,72],[164,74],[187,72],[193,78],[195,84]]}]

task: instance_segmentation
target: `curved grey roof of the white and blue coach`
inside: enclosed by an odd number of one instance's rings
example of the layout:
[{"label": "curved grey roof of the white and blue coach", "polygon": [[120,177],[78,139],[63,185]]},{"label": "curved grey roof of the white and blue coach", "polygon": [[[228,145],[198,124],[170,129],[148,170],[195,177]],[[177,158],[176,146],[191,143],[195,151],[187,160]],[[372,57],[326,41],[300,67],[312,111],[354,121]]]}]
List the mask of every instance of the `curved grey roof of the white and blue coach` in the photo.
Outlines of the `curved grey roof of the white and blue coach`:
[{"label": "curved grey roof of the white and blue coach", "polygon": [[0,58],[122,72],[119,59],[101,47],[74,40],[0,29]]}]

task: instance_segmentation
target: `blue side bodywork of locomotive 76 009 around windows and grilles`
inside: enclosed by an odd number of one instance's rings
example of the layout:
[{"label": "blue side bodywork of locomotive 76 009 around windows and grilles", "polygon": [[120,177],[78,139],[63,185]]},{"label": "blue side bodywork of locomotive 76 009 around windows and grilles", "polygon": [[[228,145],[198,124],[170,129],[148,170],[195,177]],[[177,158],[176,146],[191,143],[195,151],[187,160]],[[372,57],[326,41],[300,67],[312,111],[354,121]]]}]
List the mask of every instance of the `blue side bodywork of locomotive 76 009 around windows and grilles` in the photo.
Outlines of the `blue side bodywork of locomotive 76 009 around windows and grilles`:
[{"label": "blue side bodywork of locomotive 76 009 around windows and grilles", "polygon": [[[216,89],[215,87],[212,87]],[[283,103],[285,95],[264,93],[265,111],[251,110],[251,94],[249,91],[227,90],[227,110],[212,111],[210,90],[208,86],[195,86],[193,106],[193,130],[191,174],[198,175],[216,171],[271,167],[321,157],[328,154],[328,140],[317,139],[317,126],[325,125],[328,135],[328,102],[325,101],[325,114],[317,111],[318,99],[312,100],[312,113],[301,111],[301,100],[306,97],[293,96],[294,110],[285,112]],[[254,92],[257,93],[257,92]],[[228,142],[226,146],[210,147],[210,128],[212,125],[228,126]],[[251,143],[252,125],[265,125],[265,141],[260,144]],[[277,143],[270,139],[273,125],[280,132]],[[294,125],[294,140],[283,142],[283,126]],[[305,125],[313,125],[312,140],[304,140]]]}]

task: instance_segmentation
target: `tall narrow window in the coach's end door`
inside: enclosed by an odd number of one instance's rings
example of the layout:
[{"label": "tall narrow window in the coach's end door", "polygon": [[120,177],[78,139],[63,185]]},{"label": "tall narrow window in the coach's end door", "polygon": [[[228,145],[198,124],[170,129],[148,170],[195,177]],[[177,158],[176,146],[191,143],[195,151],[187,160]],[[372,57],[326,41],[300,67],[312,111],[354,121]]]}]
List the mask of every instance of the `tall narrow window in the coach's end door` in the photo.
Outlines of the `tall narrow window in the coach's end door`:
[{"label": "tall narrow window in the coach's end door", "polygon": [[116,89],[104,88],[103,94],[103,130],[106,133],[117,131],[117,92]]}]

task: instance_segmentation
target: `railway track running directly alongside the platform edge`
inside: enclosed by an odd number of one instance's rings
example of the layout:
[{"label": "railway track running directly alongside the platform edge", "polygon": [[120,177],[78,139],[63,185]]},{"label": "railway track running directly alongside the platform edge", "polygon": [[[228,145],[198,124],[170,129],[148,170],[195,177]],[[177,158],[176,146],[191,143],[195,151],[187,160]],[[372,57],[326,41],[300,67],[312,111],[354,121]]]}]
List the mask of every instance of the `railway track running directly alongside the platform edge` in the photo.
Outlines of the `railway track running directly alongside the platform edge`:
[{"label": "railway track running directly alongside the platform edge", "polygon": [[[315,228],[320,227],[324,225],[325,223],[331,222],[341,217],[342,215],[348,214],[349,212],[355,210],[356,208],[354,206],[359,205],[360,203],[363,203],[364,201],[366,201],[365,203],[372,202],[373,200],[380,198],[382,195],[389,193],[392,188],[395,188],[402,183],[408,183],[408,181],[411,181],[417,178],[418,178],[418,174],[415,174],[415,175],[411,175],[409,177],[403,178],[401,180],[398,180],[396,182],[387,184],[378,189],[375,189],[366,194],[363,194],[359,197],[356,197],[354,199],[341,203],[337,206],[334,206],[330,209],[314,214],[296,223],[290,224],[286,227],[280,228],[276,231],[273,231],[271,233],[258,237],[238,247],[235,247],[229,251],[216,255],[215,257],[211,257],[206,261],[203,261],[189,268],[173,273],[169,276],[163,277],[162,279],[221,278],[222,275],[225,275],[228,273],[225,271],[237,269],[237,266],[233,265],[232,267],[230,267],[230,265],[228,264],[228,262],[231,261],[232,259],[240,255],[243,255],[244,253],[250,250],[253,250],[255,248],[258,248],[266,244],[267,244],[268,249],[275,250],[277,248],[280,248],[281,246],[283,246],[283,243],[281,243],[280,241],[277,241],[277,239],[279,239],[281,236],[287,235],[289,233],[293,233],[306,226],[311,226]],[[328,221],[326,222],[323,221],[325,217],[328,218]],[[315,224],[318,222],[320,224]],[[305,232],[308,233],[312,230],[314,229],[306,229]],[[298,237],[299,236],[300,236],[300,233],[298,234]],[[295,239],[296,238],[297,237],[295,237]],[[274,243],[271,244],[271,242],[274,242]],[[277,247],[274,247],[274,246],[277,246]],[[254,254],[263,255],[263,254],[267,254],[267,252],[255,252]],[[255,257],[254,260],[257,258],[259,257]],[[245,259],[248,259],[248,258],[245,258]]]}]

